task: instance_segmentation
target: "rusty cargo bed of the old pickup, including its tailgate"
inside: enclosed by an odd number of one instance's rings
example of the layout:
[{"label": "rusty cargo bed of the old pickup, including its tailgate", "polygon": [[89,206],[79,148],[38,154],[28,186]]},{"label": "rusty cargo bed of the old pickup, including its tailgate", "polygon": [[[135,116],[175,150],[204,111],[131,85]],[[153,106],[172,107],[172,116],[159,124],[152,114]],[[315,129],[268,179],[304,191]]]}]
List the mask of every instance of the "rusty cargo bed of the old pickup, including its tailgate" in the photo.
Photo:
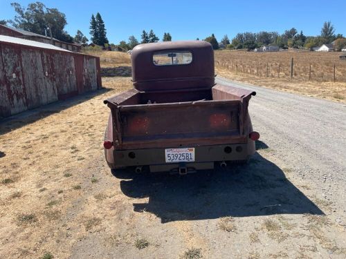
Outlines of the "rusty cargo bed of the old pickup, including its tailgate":
[{"label": "rusty cargo bed of the old pickup, including its tailgate", "polygon": [[[185,94],[186,93],[186,94]],[[107,99],[114,148],[201,146],[248,141],[248,101],[255,92],[206,89],[140,92]]]}]

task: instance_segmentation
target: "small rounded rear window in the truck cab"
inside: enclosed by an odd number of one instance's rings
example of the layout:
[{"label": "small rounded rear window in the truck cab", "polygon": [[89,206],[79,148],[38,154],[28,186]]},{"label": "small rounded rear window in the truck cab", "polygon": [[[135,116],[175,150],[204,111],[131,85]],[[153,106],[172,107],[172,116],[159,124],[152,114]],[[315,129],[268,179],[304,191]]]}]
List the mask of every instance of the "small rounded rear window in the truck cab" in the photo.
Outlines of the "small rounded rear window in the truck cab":
[{"label": "small rounded rear window in the truck cab", "polygon": [[152,60],[155,66],[188,65],[192,62],[192,52],[189,50],[155,52]]}]

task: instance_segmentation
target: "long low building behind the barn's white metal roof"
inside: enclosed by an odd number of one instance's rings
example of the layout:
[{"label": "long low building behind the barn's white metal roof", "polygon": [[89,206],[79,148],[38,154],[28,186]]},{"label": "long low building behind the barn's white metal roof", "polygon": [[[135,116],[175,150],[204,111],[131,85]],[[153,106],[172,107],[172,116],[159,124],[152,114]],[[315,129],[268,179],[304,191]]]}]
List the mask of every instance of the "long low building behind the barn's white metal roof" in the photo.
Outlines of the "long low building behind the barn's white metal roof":
[{"label": "long low building behind the barn's white metal roof", "polygon": [[65,50],[71,50],[73,52],[80,52],[82,45],[69,43],[65,41],[60,41],[55,38],[51,38],[44,35],[39,35],[34,32],[27,32],[26,30],[19,30],[17,28],[8,27],[6,25],[0,25],[0,35],[16,37],[21,39],[28,39],[31,41],[38,41],[44,44],[52,44],[59,48],[64,48]]}]

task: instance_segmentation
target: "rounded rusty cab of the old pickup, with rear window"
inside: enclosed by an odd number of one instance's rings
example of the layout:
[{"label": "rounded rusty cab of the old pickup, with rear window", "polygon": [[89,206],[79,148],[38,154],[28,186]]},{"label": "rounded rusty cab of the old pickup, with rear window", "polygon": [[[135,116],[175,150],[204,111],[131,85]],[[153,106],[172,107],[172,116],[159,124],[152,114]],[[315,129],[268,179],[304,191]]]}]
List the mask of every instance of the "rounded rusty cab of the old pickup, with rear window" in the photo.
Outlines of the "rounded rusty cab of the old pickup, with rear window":
[{"label": "rounded rusty cab of the old pickup, with rear window", "polygon": [[134,88],[140,91],[211,88],[215,84],[214,51],[206,41],[140,44],[132,50],[131,63]]}]

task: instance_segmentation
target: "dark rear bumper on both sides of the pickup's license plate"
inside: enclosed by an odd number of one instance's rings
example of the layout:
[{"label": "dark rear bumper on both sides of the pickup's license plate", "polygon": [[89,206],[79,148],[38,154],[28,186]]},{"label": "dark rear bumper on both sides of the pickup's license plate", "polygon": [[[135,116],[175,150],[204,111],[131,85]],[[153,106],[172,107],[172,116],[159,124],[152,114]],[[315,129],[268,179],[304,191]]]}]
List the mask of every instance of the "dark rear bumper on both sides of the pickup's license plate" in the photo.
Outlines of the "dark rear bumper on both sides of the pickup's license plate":
[{"label": "dark rear bumper on both sides of the pickup's license plate", "polygon": [[[194,162],[206,163],[217,161],[246,160],[249,155],[255,152],[255,143],[249,140],[243,144],[222,144],[212,146],[188,146],[195,148]],[[111,152],[113,161],[108,161],[113,168],[123,166],[147,166],[147,165],[168,165],[165,162],[165,148],[147,148],[131,150],[107,150]],[[107,154],[106,154],[106,157]],[[186,163],[189,164],[189,163]]]}]

